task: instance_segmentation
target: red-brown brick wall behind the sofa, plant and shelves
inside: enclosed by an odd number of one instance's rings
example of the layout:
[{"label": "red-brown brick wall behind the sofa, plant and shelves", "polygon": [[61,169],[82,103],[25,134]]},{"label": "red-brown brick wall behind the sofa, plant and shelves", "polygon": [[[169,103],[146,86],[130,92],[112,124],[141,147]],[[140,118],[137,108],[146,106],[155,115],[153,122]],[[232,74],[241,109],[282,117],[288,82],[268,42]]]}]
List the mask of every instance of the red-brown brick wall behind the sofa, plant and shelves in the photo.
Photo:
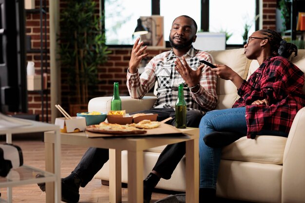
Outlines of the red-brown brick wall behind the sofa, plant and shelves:
[{"label": "red-brown brick wall behind the sofa, plant and shelves", "polygon": [[[95,0],[97,5],[99,0]],[[36,8],[39,8],[39,0],[35,1]],[[47,5],[47,33],[49,33],[49,14],[48,14],[48,5],[49,0],[46,0]],[[60,8],[62,9],[66,6],[64,0],[60,0]],[[98,7],[99,8],[99,5]],[[270,28],[276,29],[275,25],[275,11],[276,11],[276,0],[263,0],[263,29]],[[98,13],[98,10],[97,10]],[[38,13],[26,13],[26,34],[32,37],[31,46],[32,49],[40,48],[40,22]],[[49,34],[47,34],[47,48],[49,48]],[[92,94],[92,97],[96,96],[111,96],[113,94],[113,83],[119,82],[120,95],[129,95],[126,87],[126,72],[129,65],[129,59],[131,55],[131,48],[110,48],[112,53],[108,57],[106,64],[98,68],[98,79],[99,83]],[[154,55],[160,54],[162,50],[148,50],[150,53],[148,58],[152,58]],[[49,50],[47,49],[47,52]],[[39,53],[28,53],[27,60],[32,60],[35,62],[36,74],[40,74],[40,54]],[[48,73],[48,87],[50,87],[50,66],[49,66],[49,55],[47,55],[47,73]],[[69,109],[69,98],[67,92],[69,92],[68,86],[65,84],[67,73],[62,71],[61,75],[61,99],[62,106],[64,109]],[[50,101],[50,90],[47,91],[47,98]],[[45,98],[46,99],[46,98]],[[39,92],[28,92],[28,101],[29,101],[29,113],[39,114],[41,120],[41,97]],[[50,109],[50,102],[48,103]],[[48,111],[48,120],[51,120],[50,110]],[[46,120],[46,119],[44,119]]]}]

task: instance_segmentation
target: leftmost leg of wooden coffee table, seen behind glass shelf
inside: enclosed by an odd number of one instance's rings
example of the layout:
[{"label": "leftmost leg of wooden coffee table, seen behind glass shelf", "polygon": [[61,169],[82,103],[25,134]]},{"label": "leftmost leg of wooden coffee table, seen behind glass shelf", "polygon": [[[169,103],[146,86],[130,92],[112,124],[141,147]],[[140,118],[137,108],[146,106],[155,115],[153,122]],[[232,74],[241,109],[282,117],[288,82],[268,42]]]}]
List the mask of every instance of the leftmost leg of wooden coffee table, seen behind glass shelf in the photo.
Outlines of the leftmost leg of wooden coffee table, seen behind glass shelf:
[{"label": "leftmost leg of wooden coffee table, seen behind glass shelf", "polygon": [[[44,143],[45,149],[45,170],[54,173],[54,144],[53,143]],[[46,183],[46,203],[55,202],[55,190],[54,182]]]}]

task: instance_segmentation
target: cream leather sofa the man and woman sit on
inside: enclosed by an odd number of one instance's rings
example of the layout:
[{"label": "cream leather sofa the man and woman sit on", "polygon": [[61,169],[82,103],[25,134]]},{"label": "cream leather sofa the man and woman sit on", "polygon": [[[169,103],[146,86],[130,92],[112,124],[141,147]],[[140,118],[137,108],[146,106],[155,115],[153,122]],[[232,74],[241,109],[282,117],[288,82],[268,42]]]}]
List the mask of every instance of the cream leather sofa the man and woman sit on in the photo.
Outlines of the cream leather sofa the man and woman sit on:
[{"label": "cream leather sofa the man and woman sit on", "polygon": [[[243,78],[258,68],[244,49],[209,51],[215,62],[227,64]],[[305,71],[305,50],[299,50],[291,60]],[[231,108],[238,98],[236,87],[218,78],[216,109]],[[127,112],[152,108],[155,97],[141,100],[122,96],[122,108]],[[89,102],[88,111],[107,112],[111,97],[97,97]],[[152,170],[162,148],[144,152],[143,178]],[[217,181],[217,196],[256,203],[305,203],[305,108],[293,121],[288,138],[262,135],[251,140],[243,137],[223,148]],[[107,163],[108,164],[108,163]],[[106,164],[106,165],[107,165]],[[127,183],[127,152],[122,151],[122,182]],[[109,180],[109,167],[103,167],[95,178]],[[183,159],[170,180],[161,179],[156,188],[185,190],[185,160]]]}]

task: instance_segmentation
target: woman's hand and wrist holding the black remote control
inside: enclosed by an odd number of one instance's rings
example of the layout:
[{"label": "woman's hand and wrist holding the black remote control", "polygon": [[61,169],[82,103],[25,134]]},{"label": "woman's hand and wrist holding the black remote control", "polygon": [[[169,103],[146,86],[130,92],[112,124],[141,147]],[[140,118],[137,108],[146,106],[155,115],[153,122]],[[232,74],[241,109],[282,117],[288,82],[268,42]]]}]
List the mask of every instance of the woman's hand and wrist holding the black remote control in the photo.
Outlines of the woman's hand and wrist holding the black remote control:
[{"label": "woman's hand and wrist holding the black remote control", "polygon": [[229,66],[214,64],[217,68],[212,68],[212,71],[225,80],[231,80],[234,85],[239,89],[243,83],[243,78],[233,71]]}]

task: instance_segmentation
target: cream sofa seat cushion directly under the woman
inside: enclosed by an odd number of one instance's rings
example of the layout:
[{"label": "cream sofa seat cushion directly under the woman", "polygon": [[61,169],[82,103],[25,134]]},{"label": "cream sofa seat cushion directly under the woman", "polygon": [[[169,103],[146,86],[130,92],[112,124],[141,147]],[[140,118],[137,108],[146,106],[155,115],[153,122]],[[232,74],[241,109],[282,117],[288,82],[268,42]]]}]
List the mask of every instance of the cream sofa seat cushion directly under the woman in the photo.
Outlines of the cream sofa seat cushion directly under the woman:
[{"label": "cream sofa seat cushion directly under the woman", "polygon": [[286,137],[260,135],[242,137],[222,150],[222,159],[262,164],[283,164]]}]

